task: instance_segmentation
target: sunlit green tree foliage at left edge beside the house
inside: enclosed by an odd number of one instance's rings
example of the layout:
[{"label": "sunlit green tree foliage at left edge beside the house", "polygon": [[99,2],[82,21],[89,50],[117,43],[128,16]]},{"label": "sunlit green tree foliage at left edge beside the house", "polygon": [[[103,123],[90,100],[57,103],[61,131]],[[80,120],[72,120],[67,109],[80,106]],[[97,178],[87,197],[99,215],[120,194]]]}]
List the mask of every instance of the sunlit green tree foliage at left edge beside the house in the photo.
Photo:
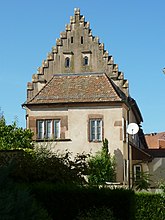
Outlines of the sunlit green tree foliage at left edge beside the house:
[{"label": "sunlit green tree foliage at left edge beside the house", "polygon": [[32,148],[32,136],[29,129],[18,128],[16,122],[6,125],[5,118],[0,117],[0,150]]}]

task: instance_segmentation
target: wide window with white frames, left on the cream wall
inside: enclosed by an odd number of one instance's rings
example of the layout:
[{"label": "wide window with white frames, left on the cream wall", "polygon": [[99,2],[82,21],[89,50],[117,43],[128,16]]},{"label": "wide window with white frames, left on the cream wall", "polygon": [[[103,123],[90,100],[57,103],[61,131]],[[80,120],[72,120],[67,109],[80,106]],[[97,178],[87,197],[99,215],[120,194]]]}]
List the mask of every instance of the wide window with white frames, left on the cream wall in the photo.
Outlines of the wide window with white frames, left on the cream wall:
[{"label": "wide window with white frames, left on the cream wall", "polygon": [[60,120],[38,120],[37,133],[38,139],[60,138]]}]

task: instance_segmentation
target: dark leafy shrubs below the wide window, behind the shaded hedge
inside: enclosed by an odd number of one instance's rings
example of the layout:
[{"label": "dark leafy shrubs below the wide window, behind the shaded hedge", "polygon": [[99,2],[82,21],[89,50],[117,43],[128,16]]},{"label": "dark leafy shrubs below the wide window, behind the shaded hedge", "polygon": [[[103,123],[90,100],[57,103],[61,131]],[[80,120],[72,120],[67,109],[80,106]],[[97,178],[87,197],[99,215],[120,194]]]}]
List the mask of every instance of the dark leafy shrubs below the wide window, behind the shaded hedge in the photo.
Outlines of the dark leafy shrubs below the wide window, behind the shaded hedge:
[{"label": "dark leafy shrubs below the wide window, behind the shaded hedge", "polygon": [[14,167],[10,176],[17,182],[85,183],[83,177],[86,170],[85,155],[77,155],[75,161],[72,161],[68,152],[56,155],[43,147],[10,150],[0,152],[0,165],[9,164],[11,156]]}]

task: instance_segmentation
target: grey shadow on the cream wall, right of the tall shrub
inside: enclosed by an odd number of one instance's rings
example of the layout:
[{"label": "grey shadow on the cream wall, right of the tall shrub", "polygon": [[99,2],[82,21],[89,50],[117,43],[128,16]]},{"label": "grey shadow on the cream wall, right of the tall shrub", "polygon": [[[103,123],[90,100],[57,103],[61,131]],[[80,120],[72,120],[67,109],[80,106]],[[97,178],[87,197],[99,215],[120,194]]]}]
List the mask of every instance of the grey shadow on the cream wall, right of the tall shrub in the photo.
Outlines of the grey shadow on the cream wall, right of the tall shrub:
[{"label": "grey shadow on the cream wall, right of the tall shrub", "polygon": [[120,149],[114,150],[116,160],[116,181],[123,182],[123,154]]}]

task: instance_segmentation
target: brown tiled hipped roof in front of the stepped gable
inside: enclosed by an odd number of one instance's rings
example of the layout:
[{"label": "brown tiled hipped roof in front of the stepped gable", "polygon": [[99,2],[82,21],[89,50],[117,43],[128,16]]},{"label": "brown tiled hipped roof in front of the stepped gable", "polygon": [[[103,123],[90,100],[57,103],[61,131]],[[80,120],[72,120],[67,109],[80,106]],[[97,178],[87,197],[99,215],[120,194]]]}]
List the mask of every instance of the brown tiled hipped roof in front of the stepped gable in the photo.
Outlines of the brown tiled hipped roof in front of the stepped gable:
[{"label": "brown tiled hipped roof in front of the stepped gable", "polygon": [[27,104],[121,101],[104,73],[56,74]]}]

